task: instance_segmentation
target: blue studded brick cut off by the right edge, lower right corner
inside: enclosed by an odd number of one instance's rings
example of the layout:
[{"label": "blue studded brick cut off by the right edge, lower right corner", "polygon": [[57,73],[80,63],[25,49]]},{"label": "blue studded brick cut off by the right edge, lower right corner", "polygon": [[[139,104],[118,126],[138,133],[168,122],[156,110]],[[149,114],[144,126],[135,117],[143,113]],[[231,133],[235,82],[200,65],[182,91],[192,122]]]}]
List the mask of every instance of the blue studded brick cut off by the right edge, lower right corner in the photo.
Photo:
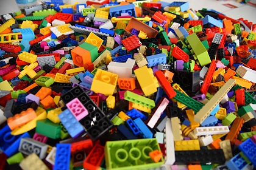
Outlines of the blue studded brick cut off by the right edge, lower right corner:
[{"label": "blue studded brick cut off by the right edge, lower right corner", "polygon": [[244,155],[251,161],[251,163],[256,166],[256,144],[251,138],[243,141],[238,148],[243,152]]}]

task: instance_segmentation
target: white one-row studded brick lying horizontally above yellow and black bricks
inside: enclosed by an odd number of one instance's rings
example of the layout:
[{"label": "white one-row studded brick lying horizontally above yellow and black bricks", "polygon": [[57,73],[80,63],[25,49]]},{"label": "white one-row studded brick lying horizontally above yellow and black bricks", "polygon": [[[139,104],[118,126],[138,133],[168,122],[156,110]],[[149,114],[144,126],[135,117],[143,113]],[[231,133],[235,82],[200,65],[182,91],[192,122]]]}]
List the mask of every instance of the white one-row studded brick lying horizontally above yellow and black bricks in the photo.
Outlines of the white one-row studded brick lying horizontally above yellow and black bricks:
[{"label": "white one-row studded brick lying horizontally above yellow and black bricks", "polygon": [[229,132],[228,126],[196,127],[194,129],[194,134],[197,136],[226,134],[227,132]]}]

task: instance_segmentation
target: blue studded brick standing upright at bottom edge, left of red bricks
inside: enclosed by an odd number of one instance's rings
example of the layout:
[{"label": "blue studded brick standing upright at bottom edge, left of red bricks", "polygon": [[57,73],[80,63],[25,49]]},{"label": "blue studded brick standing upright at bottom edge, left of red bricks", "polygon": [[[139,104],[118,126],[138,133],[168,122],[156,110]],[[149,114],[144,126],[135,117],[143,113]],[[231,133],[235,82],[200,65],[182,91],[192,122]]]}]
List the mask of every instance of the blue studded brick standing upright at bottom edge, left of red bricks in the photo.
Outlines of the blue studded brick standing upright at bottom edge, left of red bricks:
[{"label": "blue studded brick standing upright at bottom edge, left of red bricks", "polygon": [[57,143],[54,170],[69,170],[71,144]]}]

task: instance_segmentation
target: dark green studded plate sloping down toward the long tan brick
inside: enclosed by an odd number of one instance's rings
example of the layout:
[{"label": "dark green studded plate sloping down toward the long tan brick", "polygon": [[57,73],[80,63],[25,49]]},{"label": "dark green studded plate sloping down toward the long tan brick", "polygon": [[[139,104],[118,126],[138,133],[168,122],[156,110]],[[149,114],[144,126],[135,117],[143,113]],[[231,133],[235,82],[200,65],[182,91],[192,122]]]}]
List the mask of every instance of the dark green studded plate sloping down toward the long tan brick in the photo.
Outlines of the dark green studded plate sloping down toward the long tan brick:
[{"label": "dark green studded plate sloping down toward the long tan brick", "polygon": [[193,109],[194,114],[196,114],[204,106],[204,104],[194,100],[191,97],[188,97],[185,94],[182,94],[182,92],[179,92],[176,89],[174,89],[174,91],[176,92],[176,96],[174,97],[174,99],[190,107],[190,109]]}]

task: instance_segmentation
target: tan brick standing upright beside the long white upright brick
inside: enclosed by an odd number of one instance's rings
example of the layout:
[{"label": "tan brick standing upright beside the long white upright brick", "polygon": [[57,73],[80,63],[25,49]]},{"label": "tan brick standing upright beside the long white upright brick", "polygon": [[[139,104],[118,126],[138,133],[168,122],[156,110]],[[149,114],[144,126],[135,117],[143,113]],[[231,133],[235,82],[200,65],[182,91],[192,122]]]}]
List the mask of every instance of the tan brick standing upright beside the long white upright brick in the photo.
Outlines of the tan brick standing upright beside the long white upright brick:
[{"label": "tan brick standing upright beside the long white upright brick", "polygon": [[180,119],[178,117],[171,118],[171,129],[173,134],[173,140],[179,141],[183,140],[182,137],[182,127],[180,126]]}]

